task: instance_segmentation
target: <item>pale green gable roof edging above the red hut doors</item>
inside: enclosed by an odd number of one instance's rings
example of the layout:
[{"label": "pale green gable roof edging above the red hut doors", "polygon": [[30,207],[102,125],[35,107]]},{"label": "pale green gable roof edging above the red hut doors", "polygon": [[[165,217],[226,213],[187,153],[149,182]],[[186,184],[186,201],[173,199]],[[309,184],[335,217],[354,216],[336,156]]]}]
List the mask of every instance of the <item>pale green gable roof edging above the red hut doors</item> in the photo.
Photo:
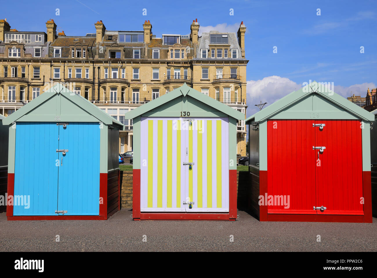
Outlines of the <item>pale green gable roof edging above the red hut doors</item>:
[{"label": "pale green gable roof edging above the red hut doors", "polygon": [[265,109],[262,109],[261,111],[248,117],[246,119],[246,124],[250,124],[251,120],[267,120],[273,117],[273,115],[283,111],[284,109],[287,109],[288,107],[292,107],[294,104],[303,101],[306,97],[313,94],[316,94],[320,98],[323,98],[326,102],[331,103],[334,106],[337,106],[340,109],[355,115],[357,118],[366,121],[374,120],[374,115],[370,112],[366,111],[360,106],[357,106],[356,104],[352,103],[351,101],[347,100],[341,95],[338,95],[335,92],[325,88],[323,84],[319,84],[316,81],[314,81],[313,83],[304,86],[299,91],[291,92],[285,97],[280,98],[280,100],[275,101],[273,104],[267,106]]}]

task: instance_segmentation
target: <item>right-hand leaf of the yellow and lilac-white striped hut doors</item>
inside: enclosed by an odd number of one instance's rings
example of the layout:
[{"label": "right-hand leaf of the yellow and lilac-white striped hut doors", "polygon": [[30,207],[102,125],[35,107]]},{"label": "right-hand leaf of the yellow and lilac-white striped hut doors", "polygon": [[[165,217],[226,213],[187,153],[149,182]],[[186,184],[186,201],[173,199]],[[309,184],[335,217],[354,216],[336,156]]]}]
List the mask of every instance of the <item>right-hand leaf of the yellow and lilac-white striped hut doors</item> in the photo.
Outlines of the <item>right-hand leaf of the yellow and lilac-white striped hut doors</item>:
[{"label": "right-hand leaf of the yellow and lilac-white striped hut doors", "polygon": [[[187,212],[229,211],[228,118],[192,118],[185,132]],[[188,202],[186,202],[188,203]]]}]

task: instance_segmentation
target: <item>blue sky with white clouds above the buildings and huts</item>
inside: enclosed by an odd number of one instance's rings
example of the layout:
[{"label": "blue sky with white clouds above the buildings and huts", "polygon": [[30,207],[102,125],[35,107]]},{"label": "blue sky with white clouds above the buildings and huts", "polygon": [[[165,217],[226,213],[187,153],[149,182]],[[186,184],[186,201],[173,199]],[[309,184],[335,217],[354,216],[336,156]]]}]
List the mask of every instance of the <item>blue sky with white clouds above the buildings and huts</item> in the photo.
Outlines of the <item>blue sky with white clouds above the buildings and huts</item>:
[{"label": "blue sky with white clouds above the buildings and huts", "polygon": [[[256,111],[253,104],[260,100],[271,104],[309,80],[334,82],[335,92],[345,97],[351,91],[365,96],[366,89],[377,84],[375,0],[17,3],[15,9],[14,2],[4,2],[0,11],[0,18],[7,18],[11,28],[46,31],[46,20],[54,18],[66,35],[94,33],[97,20],[102,20],[107,30],[142,30],[144,20],[150,20],[157,37],[189,34],[195,18],[201,26],[199,32],[236,32],[243,21],[248,28],[245,51],[250,60],[247,115]],[[56,9],[60,15],[55,14]],[[274,46],[277,53],[273,53]]]}]

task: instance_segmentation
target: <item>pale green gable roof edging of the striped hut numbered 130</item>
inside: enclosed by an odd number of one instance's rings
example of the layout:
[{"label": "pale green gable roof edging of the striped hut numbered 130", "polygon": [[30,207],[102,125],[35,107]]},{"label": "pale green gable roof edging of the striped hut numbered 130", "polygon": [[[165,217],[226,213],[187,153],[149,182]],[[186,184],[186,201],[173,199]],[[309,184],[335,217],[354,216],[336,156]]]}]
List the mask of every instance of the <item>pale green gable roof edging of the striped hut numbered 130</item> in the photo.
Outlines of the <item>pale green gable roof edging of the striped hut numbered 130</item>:
[{"label": "pale green gable roof edging of the striped hut numbered 130", "polygon": [[194,98],[195,100],[198,100],[205,105],[211,106],[212,108],[227,114],[229,117],[233,117],[237,120],[243,120],[245,118],[245,114],[237,111],[236,109],[233,109],[229,107],[228,105],[221,103],[218,100],[215,100],[211,97],[208,97],[207,95],[202,94],[201,92],[196,91],[195,89],[187,86],[186,83],[182,85],[181,87],[162,95],[161,97],[158,97],[146,104],[143,104],[142,106],[139,106],[136,109],[133,109],[132,111],[129,111],[125,114],[126,119],[133,119],[140,115],[145,114],[146,112],[149,112],[155,108],[158,108],[159,106],[162,106],[165,103],[168,103],[169,101],[174,100],[175,98],[181,97],[181,96],[190,96]]}]

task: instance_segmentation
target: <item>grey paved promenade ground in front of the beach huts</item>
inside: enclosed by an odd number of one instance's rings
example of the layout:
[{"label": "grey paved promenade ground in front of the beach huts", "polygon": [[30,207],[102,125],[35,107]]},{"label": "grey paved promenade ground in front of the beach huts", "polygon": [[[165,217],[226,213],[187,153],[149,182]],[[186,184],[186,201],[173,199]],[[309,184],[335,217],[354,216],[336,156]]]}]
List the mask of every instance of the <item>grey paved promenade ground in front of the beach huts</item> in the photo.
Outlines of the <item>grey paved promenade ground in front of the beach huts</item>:
[{"label": "grey paved promenade ground in front of the beach huts", "polygon": [[0,252],[377,251],[376,218],[372,224],[259,222],[239,211],[236,222],[132,221],[131,213],[122,209],[107,221],[6,221],[0,213]]}]

